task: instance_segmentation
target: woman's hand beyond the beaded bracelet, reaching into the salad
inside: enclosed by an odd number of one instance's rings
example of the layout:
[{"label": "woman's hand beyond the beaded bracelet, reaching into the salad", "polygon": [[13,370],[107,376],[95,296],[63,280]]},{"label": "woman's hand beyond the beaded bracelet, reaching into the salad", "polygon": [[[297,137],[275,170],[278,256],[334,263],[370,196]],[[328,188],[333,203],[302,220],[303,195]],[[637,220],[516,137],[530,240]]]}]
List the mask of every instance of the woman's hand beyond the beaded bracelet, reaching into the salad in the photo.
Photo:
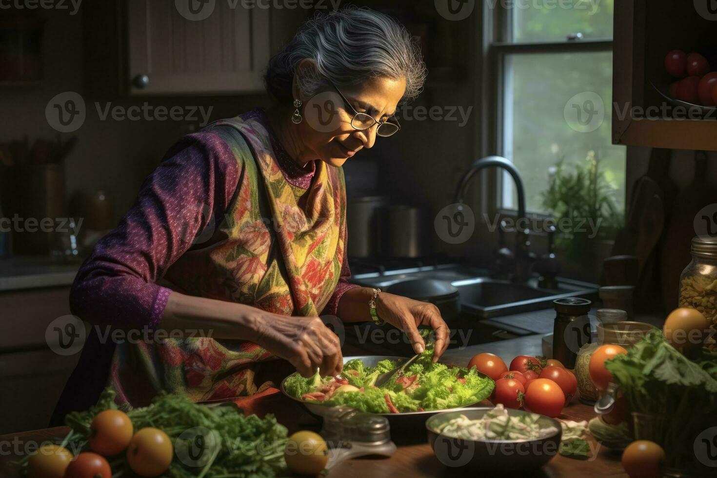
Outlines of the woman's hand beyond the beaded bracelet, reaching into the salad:
[{"label": "woman's hand beyond the beaded bracelet, reaching into the salad", "polygon": [[434,362],[448,347],[450,329],[441,317],[438,307],[429,302],[420,302],[400,295],[379,292],[379,296],[376,297],[376,314],[382,320],[403,330],[408,335],[416,353],[422,353],[426,349],[426,344],[418,332],[418,326],[428,325],[432,328],[436,336]]}]

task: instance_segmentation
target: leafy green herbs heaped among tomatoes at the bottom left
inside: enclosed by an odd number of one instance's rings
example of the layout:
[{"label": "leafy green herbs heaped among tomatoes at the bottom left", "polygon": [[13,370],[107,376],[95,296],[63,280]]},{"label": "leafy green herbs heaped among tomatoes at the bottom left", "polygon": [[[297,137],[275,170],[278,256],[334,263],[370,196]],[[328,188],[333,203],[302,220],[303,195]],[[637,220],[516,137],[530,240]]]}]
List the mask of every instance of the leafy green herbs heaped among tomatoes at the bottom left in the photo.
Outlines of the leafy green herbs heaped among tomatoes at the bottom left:
[{"label": "leafy green herbs heaped among tomatoes at the bottom left", "polygon": [[[92,419],[100,411],[117,408],[114,398],[115,392],[105,390],[98,403],[89,410],[67,414],[65,424],[72,431],[65,438],[64,446],[88,451],[87,437]],[[286,469],[284,447],[287,430],[277,423],[273,415],[267,414],[264,419],[256,415],[244,416],[236,407],[199,405],[184,396],[172,394],[157,396],[151,405],[134,408],[127,415],[135,431],[147,426],[158,428],[174,444],[174,460],[163,476],[270,477]],[[206,448],[201,454],[201,467],[188,466],[178,459],[182,448],[194,446],[190,443],[194,437],[193,429],[197,433],[212,435],[211,438],[203,436]],[[204,455],[206,453],[208,455]],[[113,478],[134,476],[123,454],[111,459],[110,465]]]}]

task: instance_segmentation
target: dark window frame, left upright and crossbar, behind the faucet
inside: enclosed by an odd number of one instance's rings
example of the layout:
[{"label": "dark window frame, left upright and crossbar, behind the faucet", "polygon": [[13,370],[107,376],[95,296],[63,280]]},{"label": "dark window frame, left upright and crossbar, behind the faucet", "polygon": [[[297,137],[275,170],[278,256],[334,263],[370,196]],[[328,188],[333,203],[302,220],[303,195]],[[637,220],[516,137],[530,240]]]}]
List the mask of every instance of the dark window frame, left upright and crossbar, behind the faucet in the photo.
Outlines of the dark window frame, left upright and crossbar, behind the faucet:
[{"label": "dark window frame, left upright and crossbar, behind the faucet", "polygon": [[[480,157],[488,156],[492,151],[505,156],[504,113],[505,113],[505,68],[506,59],[513,54],[541,54],[564,52],[612,52],[612,39],[576,39],[567,38],[564,42],[512,42],[513,9],[491,9],[488,2],[483,4],[483,71],[485,86],[481,88],[479,100],[485,105],[485,116],[481,133],[485,134],[483,144],[478,148]],[[512,161],[511,158],[508,158]],[[516,209],[503,207],[503,171],[495,171],[486,181],[488,194],[487,208],[491,214],[516,218]],[[550,217],[545,211],[526,211],[526,216]]]}]

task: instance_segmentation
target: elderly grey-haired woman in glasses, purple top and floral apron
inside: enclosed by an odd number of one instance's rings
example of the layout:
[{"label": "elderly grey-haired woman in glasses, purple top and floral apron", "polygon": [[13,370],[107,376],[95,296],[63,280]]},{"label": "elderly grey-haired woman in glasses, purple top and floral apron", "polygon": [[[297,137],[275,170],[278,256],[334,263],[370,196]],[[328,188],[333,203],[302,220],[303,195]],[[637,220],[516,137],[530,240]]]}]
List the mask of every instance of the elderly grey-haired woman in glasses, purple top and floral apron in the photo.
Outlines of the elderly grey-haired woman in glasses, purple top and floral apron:
[{"label": "elderly grey-haired woman in glasses, purple top and floral apron", "polygon": [[[303,376],[336,375],[341,347],[320,314],[389,322],[417,353],[427,325],[440,357],[448,329],[437,308],[351,285],[346,259],[341,166],[399,131],[397,106],[424,77],[410,35],[383,14],[308,21],[270,60],[277,104],[174,145],[82,265],[72,312],[101,333],[93,328],[56,416],[105,386],[123,406],[160,391],[252,395],[275,384],[277,358]],[[106,328],[145,333],[108,340]],[[160,333],[169,338],[153,340]]]}]

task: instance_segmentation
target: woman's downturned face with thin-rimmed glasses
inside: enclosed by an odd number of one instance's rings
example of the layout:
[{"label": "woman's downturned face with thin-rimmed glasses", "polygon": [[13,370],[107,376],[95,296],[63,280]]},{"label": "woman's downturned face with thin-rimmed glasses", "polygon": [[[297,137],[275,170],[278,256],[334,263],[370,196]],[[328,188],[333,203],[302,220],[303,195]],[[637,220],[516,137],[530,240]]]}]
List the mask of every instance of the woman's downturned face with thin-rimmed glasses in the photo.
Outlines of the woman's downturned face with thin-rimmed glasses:
[{"label": "woman's downturned face with thin-rimmed glasses", "polygon": [[367,130],[353,129],[351,107],[357,113],[367,113],[375,120],[384,121],[396,113],[406,90],[406,80],[376,77],[339,89],[351,105],[346,105],[331,87],[304,102],[304,120],[298,125],[305,150],[331,166],[343,165],[376,141],[377,124]]}]

